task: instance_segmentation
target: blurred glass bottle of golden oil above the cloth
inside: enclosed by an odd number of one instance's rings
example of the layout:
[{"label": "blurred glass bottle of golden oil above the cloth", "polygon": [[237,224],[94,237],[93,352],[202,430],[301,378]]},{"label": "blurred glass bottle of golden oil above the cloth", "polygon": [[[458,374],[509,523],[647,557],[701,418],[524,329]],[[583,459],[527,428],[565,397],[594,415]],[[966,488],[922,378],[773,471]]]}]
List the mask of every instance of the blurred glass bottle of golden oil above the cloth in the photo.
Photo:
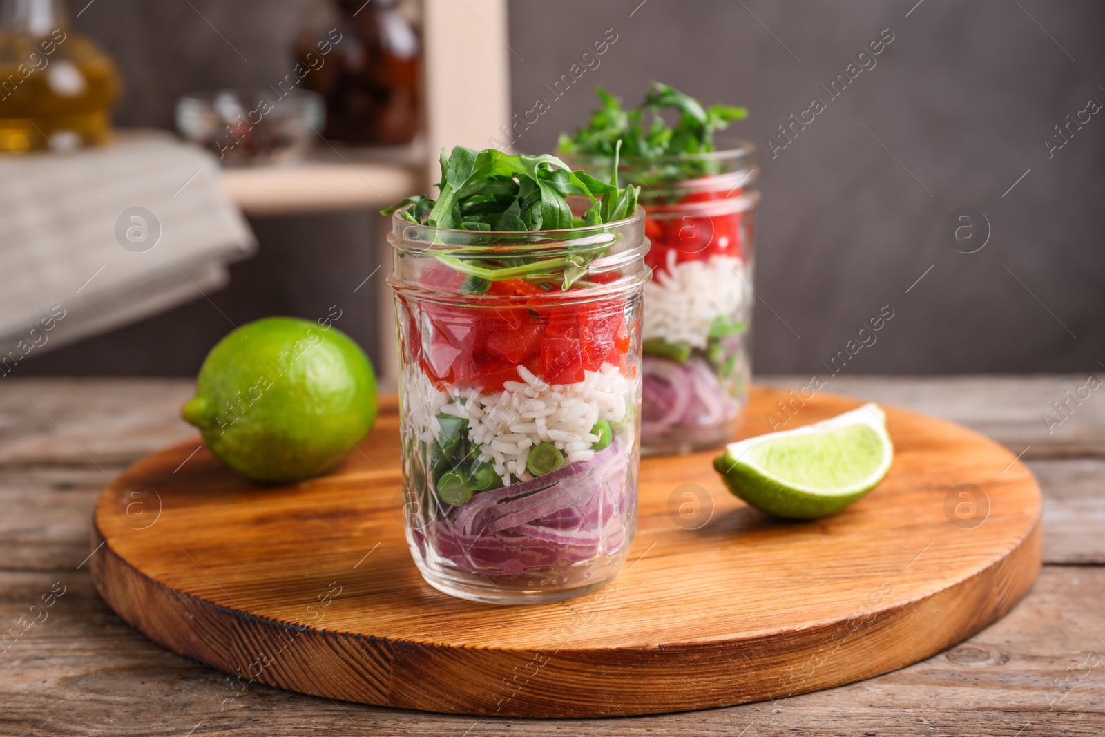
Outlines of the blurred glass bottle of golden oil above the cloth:
[{"label": "blurred glass bottle of golden oil above the cloth", "polygon": [[118,72],[62,0],[0,0],[0,152],[98,146]]}]

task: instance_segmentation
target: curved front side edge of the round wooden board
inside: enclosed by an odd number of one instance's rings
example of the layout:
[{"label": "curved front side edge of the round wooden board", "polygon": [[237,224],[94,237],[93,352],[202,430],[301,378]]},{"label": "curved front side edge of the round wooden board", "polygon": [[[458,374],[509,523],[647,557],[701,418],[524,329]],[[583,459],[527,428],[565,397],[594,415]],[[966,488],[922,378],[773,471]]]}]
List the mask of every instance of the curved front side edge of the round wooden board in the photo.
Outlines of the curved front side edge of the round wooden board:
[{"label": "curved front side edge of the round wooden board", "polygon": [[[102,541],[94,527],[93,549]],[[170,589],[123,560],[106,543],[103,548],[93,557],[92,576],[108,606],[154,642],[227,673],[230,681],[255,681],[314,696],[430,712],[581,718],[787,698],[929,657],[997,621],[1028,593],[1042,565],[1042,526],[1038,515],[1031,530],[1010,546],[1010,552],[987,568],[927,597],[873,611],[870,619],[850,618],[796,633],[786,641],[768,638],[727,647],[572,651],[552,657],[540,652],[434,647],[296,628]],[[988,580],[979,585],[979,577]],[[950,623],[949,611],[955,618]],[[864,636],[853,636],[856,634]],[[794,660],[796,652],[804,657]],[[676,654],[680,660],[673,663]],[[769,667],[734,667],[740,663],[737,654],[749,664],[748,655],[754,655]],[[481,661],[483,672],[503,675],[492,687],[487,683],[478,686],[482,701],[473,701],[477,694],[471,688],[442,693],[392,687],[393,682],[429,686],[431,682],[419,676],[433,673],[440,678],[451,664],[471,673],[472,657]],[[844,661],[863,663],[864,667],[841,667]],[[550,663],[555,663],[551,668]],[[526,675],[535,667],[545,681],[539,688],[530,686],[532,678]],[[693,689],[670,686],[673,667],[684,683],[694,684]],[[632,683],[632,689],[611,695],[611,676],[615,682]],[[597,687],[596,678],[606,691]]]}]

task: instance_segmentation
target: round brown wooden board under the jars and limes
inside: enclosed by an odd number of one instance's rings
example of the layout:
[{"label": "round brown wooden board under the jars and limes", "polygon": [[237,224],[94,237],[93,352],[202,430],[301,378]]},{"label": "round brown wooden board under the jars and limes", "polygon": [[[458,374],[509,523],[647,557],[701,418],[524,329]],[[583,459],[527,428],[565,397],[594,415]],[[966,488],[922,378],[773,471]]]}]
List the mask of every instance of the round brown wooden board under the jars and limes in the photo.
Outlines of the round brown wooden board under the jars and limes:
[{"label": "round brown wooden board under the jars and limes", "polygon": [[[743,434],[767,432],[779,400],[756,389]],[[785,429],[857,404],[819,394]],[[890,476],[817,522],[745,506],[714,453],[643,461],[621,575],[561,603],[478,604],[422,581],[403,537],[393,398],[359,452],[294,486],[253,485],[198,440],[139,461],[96,505],[93,577],[151,640],[243,684],[532,717],[783,698],[964,640],[1040,568],[1029,470],[958,425],[887,414]]]}]

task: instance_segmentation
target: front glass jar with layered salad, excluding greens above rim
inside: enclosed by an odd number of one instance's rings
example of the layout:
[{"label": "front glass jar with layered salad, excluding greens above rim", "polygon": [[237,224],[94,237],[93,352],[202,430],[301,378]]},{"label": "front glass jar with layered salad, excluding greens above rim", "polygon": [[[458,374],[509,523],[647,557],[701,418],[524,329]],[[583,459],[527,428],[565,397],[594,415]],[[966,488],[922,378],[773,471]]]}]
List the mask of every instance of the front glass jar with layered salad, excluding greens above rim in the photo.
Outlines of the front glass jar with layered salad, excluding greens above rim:
[{"label": "front glass jar with layered salad, excluding greens above rim", "polygon": [[[422,576],[491,603],[604,586],[636,529],[643,210],[537,232],[396,213],[388,240],[404,518]],[[511,278],[482,278],[488,266]]]}]

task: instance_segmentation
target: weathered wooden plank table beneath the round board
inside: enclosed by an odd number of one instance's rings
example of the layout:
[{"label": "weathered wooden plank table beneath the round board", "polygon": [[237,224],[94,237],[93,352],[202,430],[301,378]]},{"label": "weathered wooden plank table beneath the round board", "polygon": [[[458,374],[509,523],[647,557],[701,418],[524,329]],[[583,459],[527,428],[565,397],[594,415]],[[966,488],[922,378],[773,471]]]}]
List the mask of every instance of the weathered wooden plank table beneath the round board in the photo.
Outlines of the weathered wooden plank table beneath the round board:
[{"label": "weathered wooden plank table beneath the round board", "polygon": [[987,433],[1023,451],[1039,477],[1044,569],[1024,601],[971,640],[877,678],[778,702],[657,717],[495,720],[240,685],[147,641],[96,594],[86,565],[90,515],[114,474],[191,435],[177,420],[191,382],[8,377],[0,391],[0,634],[8,631],[0,640],[0,734],[1098,737],[1105,733],[1105,399],[1094,392],[1050,433],[1041,419],[1086,379],[829,381],[829,391]]}]

